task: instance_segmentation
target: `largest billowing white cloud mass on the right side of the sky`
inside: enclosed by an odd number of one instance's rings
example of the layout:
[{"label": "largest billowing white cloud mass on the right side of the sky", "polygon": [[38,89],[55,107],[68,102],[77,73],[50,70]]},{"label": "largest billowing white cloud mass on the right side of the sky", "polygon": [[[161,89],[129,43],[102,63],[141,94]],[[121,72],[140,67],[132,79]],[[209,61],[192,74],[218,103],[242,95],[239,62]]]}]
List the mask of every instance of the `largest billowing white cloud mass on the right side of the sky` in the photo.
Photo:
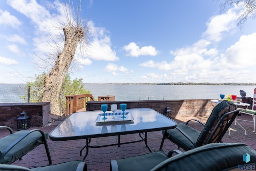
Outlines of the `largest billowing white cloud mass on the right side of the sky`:
[{"label": "largest billowing white cloud mass on the right side of the sky", "polygon": [[[232,32],[236,27],[235,22],[237,17],[236,12],[234,11],[234,9],[231,9],[225,14],[211,17],[206,23],[207,30],[202,35],[204,39],[198,40],[191,46],[170,51],[170,54],[175,56],[174,60],[170,62],[167,62],[166,60],[163,60],[162,62],[149,60],[140,64],[140,66],[157,68],[164,72],[172,71],[170,74],[171,79],[179,80],[182,78],[183,81],[188,82],[200,82],[201,80],[209,80],[209,82],[217,80],[218,82],[218,79],[220,79],[218,76],[220,75],[223,76],[221,80],[224,78],[228,80],[228,77],[230,77],[228,74],[231,72],[229,70],[232,70],[232,66],[228,66],[228,64],[233,64],[234,68],[234,62],[236,61],[236,64],[241,64],[243,62],[248,63],[248,60],[256,61],[256,57],[253,56],[253,54],[256,54],[256,50],[253,48],[256,46],[256,38],[252,35],[248,37],[241,37],[240,41],[237,42],[234,47],[230,47],[227,50],[228,57],[226,57],[225,54],[218,57],[219,51],[216,48],[209,48],[212,45],[212,42],[220,42],[226,34],[230,34],[230,32]],[[244,42],[248,43],[244,44]],[[236,51],[239,51],[239,53]],[[238,62],[241,59],[245,59],[242,57],[245,55],[247,56],[246,62]],[[236,59],[234,60],[234,58]],[[233,60],[234,62],[231,62]],[[230,62],[228,63],[228,61]],[[254,62],[252,62],[252,64],[253,63]],[[158,75],[156,74],[154,76]],[[150,75],[147,77],[150,77]]]}]

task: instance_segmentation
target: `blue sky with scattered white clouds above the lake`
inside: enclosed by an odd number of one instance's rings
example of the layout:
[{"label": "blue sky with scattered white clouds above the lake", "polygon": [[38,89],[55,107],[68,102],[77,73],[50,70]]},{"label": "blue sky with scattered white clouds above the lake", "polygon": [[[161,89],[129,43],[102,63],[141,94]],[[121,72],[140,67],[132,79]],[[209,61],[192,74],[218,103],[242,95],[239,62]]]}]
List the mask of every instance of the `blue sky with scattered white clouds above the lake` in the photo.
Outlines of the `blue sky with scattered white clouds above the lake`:
[{"label": "blue sky with scattered white clouds above the lake", "polygon": [[[220,13],[220,2],[82,0],[92,36],[87,54],[76,53],[72,79],[256,83],[256,21],[240,30],[239,7]],[[62,32],[51,26],[65,20],[58,0],[1,0],[0,83],[26,83],[47,71],[49,34]]]}]

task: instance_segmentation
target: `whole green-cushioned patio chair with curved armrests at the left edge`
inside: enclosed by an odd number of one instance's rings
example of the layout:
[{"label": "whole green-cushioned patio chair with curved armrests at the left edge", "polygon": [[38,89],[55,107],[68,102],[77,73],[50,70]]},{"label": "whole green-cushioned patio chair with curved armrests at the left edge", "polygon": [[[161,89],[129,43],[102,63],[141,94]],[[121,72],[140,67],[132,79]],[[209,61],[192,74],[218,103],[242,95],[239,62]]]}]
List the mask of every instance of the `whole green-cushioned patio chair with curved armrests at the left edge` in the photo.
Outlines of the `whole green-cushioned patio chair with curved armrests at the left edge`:
[{"label": "whole green-cushioned patio chair with curved armrests at the left edge", "polygon": [[17,159],[22,159],[26,153],[40,144],[44,144],[49,164],[52,164],[50,151],[46,139],[48,133],[39,129],[22,130],[15,132],[7,126],[0,126],[0,129],[8,129],[10,135],[0,139],[0,164],[12,164]]}]

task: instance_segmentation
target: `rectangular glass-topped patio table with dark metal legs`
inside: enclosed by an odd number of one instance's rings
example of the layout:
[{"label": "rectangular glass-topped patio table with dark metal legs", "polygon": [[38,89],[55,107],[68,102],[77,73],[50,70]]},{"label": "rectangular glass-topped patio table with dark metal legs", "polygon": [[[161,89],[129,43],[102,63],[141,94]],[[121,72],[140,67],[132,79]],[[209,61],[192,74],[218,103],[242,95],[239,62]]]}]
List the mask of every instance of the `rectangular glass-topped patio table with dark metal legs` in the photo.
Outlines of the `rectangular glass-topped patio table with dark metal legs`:
[{"label": "rectangular glass-topped patio table with dark metal legs", "polygon": [[[88,155],[89,147],[98,148],[111,145],[120,146],[121,144],[134,143],[139,141],[145,141],[146,147],[151,152],[147,145],[147,132],[162,130],[167,131],[167,129],[174,129],[177,125],[175,121],[153,109],[127,109],[125,112],[126,114],[130,115],[130,117],[127,117],[128,120],[120,120],[119,117],[123,115],[122,111],[120,110],[116,111],[118,119],[115,120],[111,119],[112,111],[106,111],[106,117],[108,117],[106,120],[101,119],[102,111],[85,111],[73,113],[64,121],[62,121],[62,123],[60,123],[60,125],[58,125],[54,130],[52,130],[49,134],[49,137],[52,141],[86,139],[86,145],[80,151],[81,156],[82,150],[86,148],[86,155],[84,156],[85,159]],[[121,143],[120,135],[134,133],[139,133],[141,139]],[[98,146],[90,145],[91,138],[109,136],[118,136],[118,143]],[[162,147],[162,143],[164,142],[163,140],[164,136],[160,147]]]}]

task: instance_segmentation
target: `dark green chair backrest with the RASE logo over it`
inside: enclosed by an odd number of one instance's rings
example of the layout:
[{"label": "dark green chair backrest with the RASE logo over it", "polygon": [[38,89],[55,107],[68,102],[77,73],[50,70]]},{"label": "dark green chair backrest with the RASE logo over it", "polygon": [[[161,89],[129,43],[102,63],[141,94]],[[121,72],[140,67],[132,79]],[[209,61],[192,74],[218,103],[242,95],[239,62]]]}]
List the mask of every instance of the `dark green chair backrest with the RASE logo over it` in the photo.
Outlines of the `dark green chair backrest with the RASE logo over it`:
[{"label": "dark green chair backrest with the RASE logo over it", "polygon": [[256,151],[246,144],[211,143],[170,157],[151,171],[243,170],[246,165],[255,167],[255,163]]}]

